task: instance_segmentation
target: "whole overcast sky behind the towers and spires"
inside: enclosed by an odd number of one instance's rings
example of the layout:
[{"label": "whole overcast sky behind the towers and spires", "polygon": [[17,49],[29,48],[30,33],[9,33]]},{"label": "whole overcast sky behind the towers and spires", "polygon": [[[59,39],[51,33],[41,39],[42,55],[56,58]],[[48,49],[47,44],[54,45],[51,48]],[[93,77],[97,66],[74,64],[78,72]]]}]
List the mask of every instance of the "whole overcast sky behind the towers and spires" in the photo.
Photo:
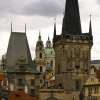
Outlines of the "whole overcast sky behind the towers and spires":
[{"label": "whole overcast sky behind the towers and spires", "polygon": [[[0,0],[0,56],[6,53],[10,36],[10,23],[13,31],[24,31],[27,24],[27,37],[34,58],[35,44],[41,31],[44,44],[47,37],[53,36],[54,18],[57,19],[57,34],[61,34],[65,0]],[[79,0],[82,30],[89,30],[89,15],[92,14],[94,46],[92,59],[100,59],[100,0]]]}]

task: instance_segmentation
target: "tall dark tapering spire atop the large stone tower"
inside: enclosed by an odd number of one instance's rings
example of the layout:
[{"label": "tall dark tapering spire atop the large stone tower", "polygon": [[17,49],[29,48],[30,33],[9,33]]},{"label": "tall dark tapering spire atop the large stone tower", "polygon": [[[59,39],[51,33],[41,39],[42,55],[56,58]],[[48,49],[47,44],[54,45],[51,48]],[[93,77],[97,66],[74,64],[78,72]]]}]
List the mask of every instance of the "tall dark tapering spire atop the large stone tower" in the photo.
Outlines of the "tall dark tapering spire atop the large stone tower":
[{"label": "tall dark tapering spire atop the large stone tower", "polygon": [[78,0],[66,0],[62,34],[81,34],[81,22]]}]

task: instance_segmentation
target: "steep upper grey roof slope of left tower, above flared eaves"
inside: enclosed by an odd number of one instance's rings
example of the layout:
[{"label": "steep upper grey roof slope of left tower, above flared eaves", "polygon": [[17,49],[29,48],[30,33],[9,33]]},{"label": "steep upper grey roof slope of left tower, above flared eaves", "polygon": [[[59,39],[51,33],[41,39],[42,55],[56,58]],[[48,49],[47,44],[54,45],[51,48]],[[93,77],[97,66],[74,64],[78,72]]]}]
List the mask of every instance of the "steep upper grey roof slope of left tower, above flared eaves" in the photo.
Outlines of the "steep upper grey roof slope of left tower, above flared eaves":
[{"label": "steep upper grey roof slope of left tower, above flared eaves", "polygon": [[23,57],[26,63],[32,64],[32,58],[25,33],[12,32],[7,49],[7,67],[14,66]]}]

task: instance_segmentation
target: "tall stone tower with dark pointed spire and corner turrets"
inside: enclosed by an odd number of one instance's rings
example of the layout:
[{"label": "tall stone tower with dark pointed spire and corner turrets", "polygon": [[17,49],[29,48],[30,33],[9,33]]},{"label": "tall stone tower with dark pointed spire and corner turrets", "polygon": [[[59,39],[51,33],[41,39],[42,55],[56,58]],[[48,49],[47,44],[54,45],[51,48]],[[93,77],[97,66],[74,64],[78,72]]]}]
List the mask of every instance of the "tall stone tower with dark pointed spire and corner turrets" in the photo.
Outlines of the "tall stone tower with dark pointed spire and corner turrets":
[{"label": "tall stone tower with dark pointed spire and corner turrets", "polygon": [[54,27],[56,81],[66,91],[80,91],[91,60],[93,45],[92,26],[82,33],[78,0],[66,0],[62,34],[56,35]]}]

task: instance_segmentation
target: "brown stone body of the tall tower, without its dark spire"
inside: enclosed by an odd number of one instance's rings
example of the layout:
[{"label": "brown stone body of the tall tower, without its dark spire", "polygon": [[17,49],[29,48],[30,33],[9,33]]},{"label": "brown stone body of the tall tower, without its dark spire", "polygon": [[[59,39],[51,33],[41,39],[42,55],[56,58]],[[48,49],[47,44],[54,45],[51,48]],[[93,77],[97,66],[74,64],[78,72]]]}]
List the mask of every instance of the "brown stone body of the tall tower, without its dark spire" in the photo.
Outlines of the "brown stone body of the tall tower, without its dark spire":
[{"label": "brown stone body of the tall tower, without its dark spire", "polygon": [[73,39],[58,37],[60,39],[56,40],[54,45],[56,79],[67,90],[76,90],[75,82],[82,87],[88,75],[92,43],[89,38],[82,40],[81,36],[70,36]]}]

